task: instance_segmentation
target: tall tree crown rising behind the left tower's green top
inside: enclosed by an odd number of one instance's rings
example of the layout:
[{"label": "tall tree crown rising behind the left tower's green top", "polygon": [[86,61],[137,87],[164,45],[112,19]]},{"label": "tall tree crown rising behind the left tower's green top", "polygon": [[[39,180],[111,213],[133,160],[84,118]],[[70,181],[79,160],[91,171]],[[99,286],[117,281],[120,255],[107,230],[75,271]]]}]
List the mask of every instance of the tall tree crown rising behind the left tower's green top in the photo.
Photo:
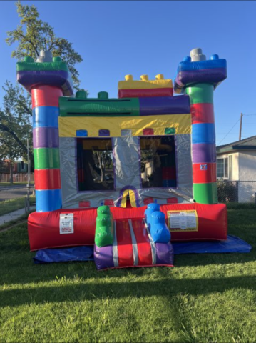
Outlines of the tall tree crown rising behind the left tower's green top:
[{"label": "tall tree crown rising behind the left tower's green top", "polygon": [[66,61],[74,86],[78,89],[80,81],[75,65],[83,61],[81,55],[67,39],[56,37],[52,26],[39,19],[39,11],[35,5],[22,5],[18,1],[16,7],[21,18],[20,25],[17,29],[8,31],[6,38],[6,43],[10,46],[18,44],[11,57],[22,61],[25,56],[31,56],[36,60],[41,50],[50,50],[53,56],[60,56]]}]

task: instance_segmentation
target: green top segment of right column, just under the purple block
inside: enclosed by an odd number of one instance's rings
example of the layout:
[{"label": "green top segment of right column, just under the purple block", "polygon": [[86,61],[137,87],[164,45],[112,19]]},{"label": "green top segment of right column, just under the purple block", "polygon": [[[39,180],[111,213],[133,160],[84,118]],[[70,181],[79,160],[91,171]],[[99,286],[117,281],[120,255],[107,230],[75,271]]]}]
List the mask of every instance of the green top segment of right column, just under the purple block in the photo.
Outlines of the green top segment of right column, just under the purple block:
[{"label": "green top segment of right column, just under the purple block", "polygon": [[186,87],[185,94],[190,96],[190,104],[213,104],[213,84],[193,84]]}]

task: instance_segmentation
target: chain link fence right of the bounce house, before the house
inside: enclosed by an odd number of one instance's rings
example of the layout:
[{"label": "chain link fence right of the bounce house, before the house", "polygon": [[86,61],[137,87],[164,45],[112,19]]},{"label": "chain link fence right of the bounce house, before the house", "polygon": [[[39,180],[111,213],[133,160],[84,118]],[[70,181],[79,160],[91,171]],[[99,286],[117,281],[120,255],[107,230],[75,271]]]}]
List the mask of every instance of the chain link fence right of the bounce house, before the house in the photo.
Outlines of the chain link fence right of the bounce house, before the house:
[{"label": "chain link fence right of the bounce house, before the house", "polygon": [[256,203],[256,181],[217,181],[218,202]]}]

